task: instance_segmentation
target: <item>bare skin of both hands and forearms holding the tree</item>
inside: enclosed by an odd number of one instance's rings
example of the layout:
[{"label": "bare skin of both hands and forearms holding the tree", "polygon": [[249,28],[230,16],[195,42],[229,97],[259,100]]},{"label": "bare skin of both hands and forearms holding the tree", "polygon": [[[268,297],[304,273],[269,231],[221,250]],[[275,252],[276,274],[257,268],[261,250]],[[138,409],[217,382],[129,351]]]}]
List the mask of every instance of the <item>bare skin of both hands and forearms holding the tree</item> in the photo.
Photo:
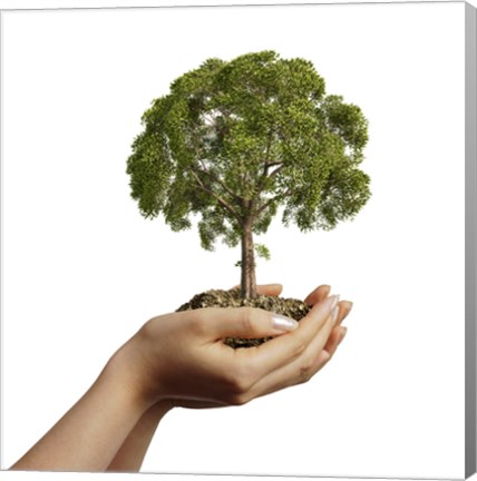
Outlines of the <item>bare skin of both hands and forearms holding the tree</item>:
[{"label": "bare skin of both hands and forearms holding the tree", "polygon": [[[280,295],[281,285],[259,287]],[[256,308],[204,308],[148,321],[109,360],[86,394],[14,470],[138,471],[163,416],[173,408],[241,405],[309,381],[333,356],[352,304],[320,286],[299,325]],[[276,336],[233,350],[224,337]],[[177,350],[177,345],[181,350]]]}]

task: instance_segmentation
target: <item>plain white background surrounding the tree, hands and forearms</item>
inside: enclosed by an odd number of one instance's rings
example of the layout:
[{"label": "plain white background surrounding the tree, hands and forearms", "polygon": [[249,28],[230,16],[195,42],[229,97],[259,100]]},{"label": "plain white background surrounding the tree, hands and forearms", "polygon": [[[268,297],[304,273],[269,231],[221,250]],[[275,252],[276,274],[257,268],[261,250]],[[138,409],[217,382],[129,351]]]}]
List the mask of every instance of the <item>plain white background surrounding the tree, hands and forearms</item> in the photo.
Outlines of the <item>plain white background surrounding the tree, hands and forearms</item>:
[{"label": "plain white background surrounding the tree, hands and forearms", "polygon": [[204,59],[303,57],[370,127],[354,222],[260,238],[260,283],[354,302],[310,383],[169,413],[144,471],[464,475],[464,3],[2,16],[2,468],[145,321],[237,282],[238,251],[145,220],[125,174],[150,100]]}]

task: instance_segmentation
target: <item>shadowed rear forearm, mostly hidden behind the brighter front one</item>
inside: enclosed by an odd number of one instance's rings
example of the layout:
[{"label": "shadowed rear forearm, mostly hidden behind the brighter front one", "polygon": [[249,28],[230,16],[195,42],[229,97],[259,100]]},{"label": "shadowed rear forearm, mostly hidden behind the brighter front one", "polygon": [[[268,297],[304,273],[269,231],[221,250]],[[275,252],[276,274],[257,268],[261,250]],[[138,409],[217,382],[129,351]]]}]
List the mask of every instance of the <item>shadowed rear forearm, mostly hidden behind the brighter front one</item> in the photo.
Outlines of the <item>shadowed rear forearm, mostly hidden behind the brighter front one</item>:
[{"label": "shadowed rear forearm, mostly hidden behind the brighter front one", "polygon": [[172,409],[167,402],[158,402],[149,408],[119,448],[108,471],[139,471],[163,416]]}]

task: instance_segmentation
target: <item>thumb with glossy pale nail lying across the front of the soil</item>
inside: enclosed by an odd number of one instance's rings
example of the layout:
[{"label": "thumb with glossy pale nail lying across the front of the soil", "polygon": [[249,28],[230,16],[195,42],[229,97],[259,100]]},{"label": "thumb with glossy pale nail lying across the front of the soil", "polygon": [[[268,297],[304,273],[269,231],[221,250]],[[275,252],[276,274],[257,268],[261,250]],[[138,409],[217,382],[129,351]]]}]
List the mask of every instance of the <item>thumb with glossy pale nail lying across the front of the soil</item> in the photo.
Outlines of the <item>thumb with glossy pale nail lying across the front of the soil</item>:
[{"label": "thumb with glossy pale nail lying across the front of the soil", "polygon": [[281,314],[254,307],[204,308],[207,333],[214,341],[223,337],[266,337],[284,334],[299,323]]}]

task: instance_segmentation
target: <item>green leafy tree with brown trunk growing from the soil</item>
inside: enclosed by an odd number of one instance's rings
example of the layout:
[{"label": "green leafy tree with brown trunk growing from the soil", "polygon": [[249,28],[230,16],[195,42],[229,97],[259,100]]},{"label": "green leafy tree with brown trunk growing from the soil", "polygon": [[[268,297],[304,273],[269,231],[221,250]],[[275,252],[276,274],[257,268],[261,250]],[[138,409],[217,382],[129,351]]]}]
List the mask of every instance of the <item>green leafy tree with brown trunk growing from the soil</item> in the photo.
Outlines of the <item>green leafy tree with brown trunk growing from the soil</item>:
[{"label": "green leafy tree with brown trunk growing from the soil", "polygon": [[325,95],[301,58],[274,51],[212,58],[174,80],[142,118],[127,160],[132,196],[173,230],[201,216],[201,244],[242,244],[241,295],[254,297],[254,234],[282,209],[285,225],[331,229],[370,197],[359,169],[368,141],[361,109]]}]

